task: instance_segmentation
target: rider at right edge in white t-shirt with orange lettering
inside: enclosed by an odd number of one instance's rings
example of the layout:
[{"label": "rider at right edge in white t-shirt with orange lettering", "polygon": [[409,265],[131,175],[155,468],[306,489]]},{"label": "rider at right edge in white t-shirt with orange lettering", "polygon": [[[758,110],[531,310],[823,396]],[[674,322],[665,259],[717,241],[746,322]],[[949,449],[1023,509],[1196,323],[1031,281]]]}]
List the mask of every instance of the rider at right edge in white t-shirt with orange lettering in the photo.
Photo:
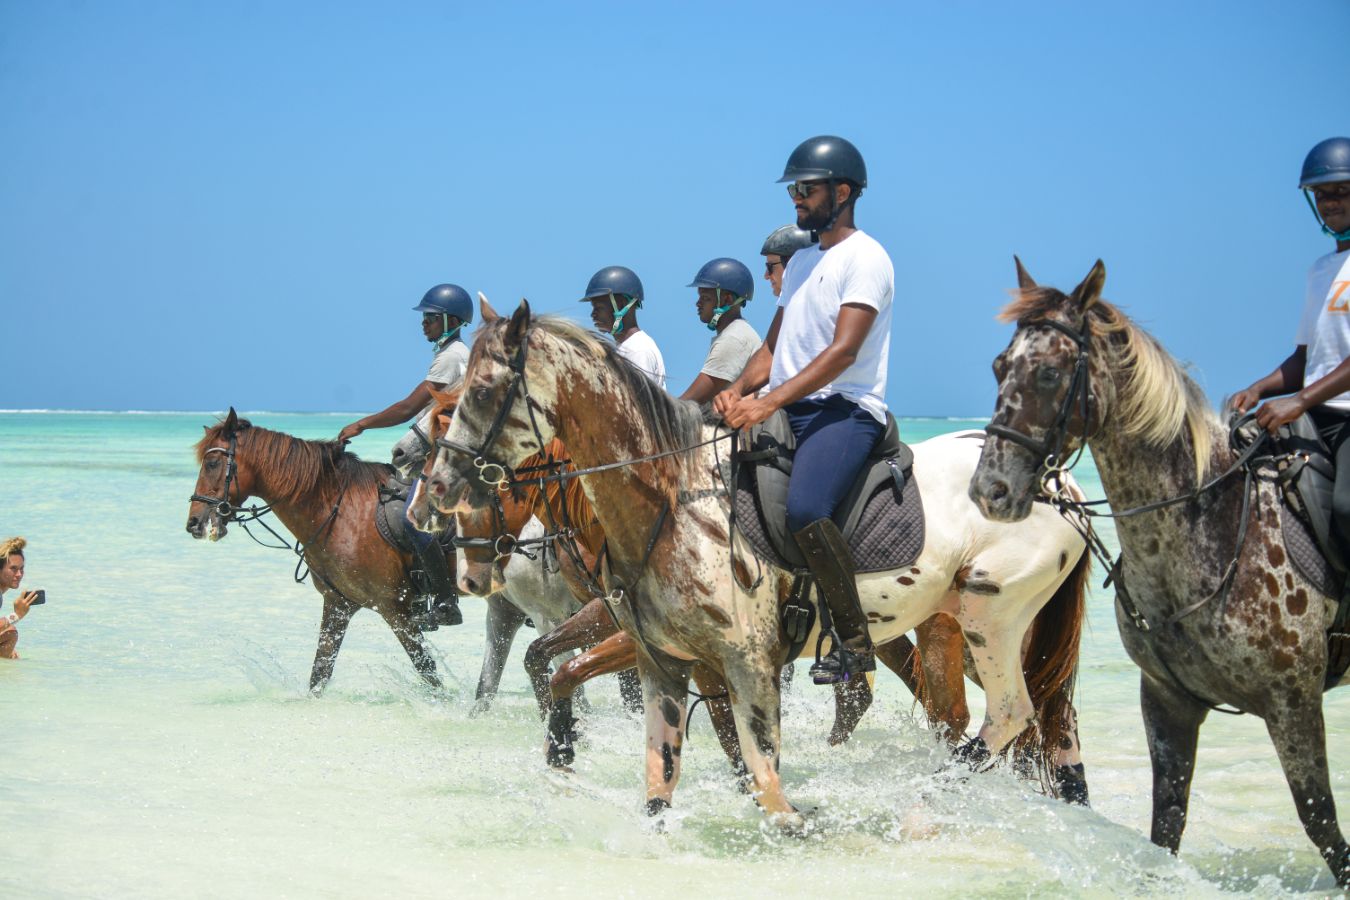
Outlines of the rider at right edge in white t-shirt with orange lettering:
[{"label": "rider at right edge in white t-shirt with orange lettering", "polygon": [[[1308,270],[1293,352],[1273,372],[1234,394],[1231,405],[1246,412],[1276,397],[1257,410],[1257,422],[1270,432],[1303,413],[1312,417],[1336,460],[1334,532],[1342,548],[1350,549],[1350,138],[1330,138],[1314,147],[1303,162],[1299,186],[1336,248]],[[1345,671],[1350,636],[1331,641],[1331,653],[1330,664]]]}]

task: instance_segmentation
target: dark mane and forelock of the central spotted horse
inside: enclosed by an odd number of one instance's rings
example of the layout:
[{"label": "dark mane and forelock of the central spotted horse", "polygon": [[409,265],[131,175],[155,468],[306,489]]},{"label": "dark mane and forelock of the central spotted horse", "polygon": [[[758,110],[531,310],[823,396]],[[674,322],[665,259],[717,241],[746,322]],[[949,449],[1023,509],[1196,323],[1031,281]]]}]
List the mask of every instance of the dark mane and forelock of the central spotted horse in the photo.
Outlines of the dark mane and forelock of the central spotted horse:
[{"label": "dark mane and forelock of the central spotted horse", "polygon": [[[502,316],[479,327],[468,360],[471,368],[478,358],[490,352],[489,348],[494,351],[502,348],[509,324],[510,317]],[[653,452],[693,447],[702,440],[705,420],[699,405],[667,394],[645,372],[621,356],[616,344],[602,340],[562,316],[535,316],[531,320],[531,333],[536,331],[559,340],[582,359],[598,363],[622,386],[629,402],[624,413],[647,425],[655,443]],[[648,463],[656,471],[657,487],[670,494],[672,505],[694,459],[697,459],[694,453],[675,453]]]}]

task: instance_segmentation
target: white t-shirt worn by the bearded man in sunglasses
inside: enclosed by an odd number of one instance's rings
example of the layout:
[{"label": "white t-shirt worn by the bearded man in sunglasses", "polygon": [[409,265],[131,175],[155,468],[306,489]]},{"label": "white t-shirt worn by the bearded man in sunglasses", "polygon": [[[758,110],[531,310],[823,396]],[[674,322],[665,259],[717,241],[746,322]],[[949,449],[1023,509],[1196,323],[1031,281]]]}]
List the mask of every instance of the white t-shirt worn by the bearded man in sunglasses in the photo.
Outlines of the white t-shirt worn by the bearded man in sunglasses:
[{"label": "white t-shirt worn by the bearded man in sunglasses", "polygon": [[[886,422],[886,363],[891,351],[891,301],[895,269],[882,244],[861,231],[829,250],[819,244],[792,254],[783,270],[778,305],[783,324],[774,348],[768,387],[788,381],[834,343],[840,306],[860,304],[876,310],[857,359],[829,385],[807,394],[819,399],[840,394],[879,422]],[[806,399],[803,398],[803,399]]]}]

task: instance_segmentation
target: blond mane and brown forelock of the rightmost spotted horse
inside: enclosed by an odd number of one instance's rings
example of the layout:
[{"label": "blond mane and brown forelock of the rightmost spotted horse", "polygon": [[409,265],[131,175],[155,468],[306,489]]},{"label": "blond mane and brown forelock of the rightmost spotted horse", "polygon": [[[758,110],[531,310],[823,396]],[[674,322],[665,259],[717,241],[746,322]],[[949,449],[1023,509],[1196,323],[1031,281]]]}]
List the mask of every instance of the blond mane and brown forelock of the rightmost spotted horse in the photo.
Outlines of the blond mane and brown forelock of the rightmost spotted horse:
[{"label": "blond mane and brown forelock of the rightmost spotted horse", "polygon": [[[1052,318],[1069,304],[1054,287],[1025,287],[1014,291],[1013,302],[999,313],[999,321],[1023,324]],[[1088,331],[1103,339],[1111,368],[1123,378],[1116,390],[1120,428],[1157,448],[1180,440],[1189,432],[1195,448],[1196,480],[1204,478],[1219,422],[1210,401],[1185,368],[1158,340],[1139,328],[1119,306],[1098,298],[1088,306]],[[1102,410],[1104,416],[1107,410]]]}]

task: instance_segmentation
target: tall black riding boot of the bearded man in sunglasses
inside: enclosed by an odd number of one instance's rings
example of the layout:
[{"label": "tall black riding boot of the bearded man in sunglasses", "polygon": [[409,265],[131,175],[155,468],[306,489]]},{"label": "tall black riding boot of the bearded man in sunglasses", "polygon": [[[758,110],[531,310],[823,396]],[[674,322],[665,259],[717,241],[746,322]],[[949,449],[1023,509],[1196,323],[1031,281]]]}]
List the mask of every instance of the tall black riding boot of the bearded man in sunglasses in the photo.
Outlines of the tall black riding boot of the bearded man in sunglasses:
[{"label": "tall black riding boot of the bearded man in sunglasses", "polygon": [[834,622],[833,646],[811,667],[811,680],[837,684],[875,671],[876,657],[867,636],[867,617],[857,599],[853,555],[838,526],[833,519],[818,518],[792,537],[802,548],[806,565]]}]

